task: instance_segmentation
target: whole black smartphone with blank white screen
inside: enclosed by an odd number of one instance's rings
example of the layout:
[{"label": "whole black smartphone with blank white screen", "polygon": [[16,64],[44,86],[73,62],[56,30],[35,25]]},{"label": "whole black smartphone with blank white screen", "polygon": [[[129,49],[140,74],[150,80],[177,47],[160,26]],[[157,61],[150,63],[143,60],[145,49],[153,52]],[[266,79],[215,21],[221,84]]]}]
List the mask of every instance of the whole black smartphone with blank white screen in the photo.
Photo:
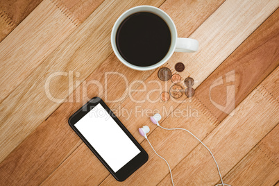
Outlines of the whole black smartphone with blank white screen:
[{"label": "whole black smartphone with blank white screen", "polygon": [[69,118],[69,125],[110,174],[124,181],[149,155],[99,97],[94,97]]}]

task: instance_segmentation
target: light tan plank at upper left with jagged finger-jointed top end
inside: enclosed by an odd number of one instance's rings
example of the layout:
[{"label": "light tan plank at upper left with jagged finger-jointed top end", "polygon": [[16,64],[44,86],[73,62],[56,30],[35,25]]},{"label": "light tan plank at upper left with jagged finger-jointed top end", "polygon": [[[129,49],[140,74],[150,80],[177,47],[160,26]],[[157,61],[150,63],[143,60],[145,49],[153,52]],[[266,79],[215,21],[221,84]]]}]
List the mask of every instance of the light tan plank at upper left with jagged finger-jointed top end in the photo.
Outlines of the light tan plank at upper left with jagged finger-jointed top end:
[{"label": "light tan plank at upper left with jagged finger-jointed top end", "polygon": [[65,16],[65,7],[56,5],[56,1],[42,1],[0,43],[0,102],[80,24],[71,15]]}]

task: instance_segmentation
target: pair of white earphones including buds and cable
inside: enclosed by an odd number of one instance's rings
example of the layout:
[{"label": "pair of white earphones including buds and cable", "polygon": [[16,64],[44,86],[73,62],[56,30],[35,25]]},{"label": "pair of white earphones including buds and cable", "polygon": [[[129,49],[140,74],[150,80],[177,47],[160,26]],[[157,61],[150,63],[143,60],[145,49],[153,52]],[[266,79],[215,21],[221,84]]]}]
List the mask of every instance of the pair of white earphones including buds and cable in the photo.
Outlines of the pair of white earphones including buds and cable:
[{"label": "pair of white earphones including buds and cable", "polygon": [[[192,136],[194,136],[196,138],[196,140],[198,140],[199,142],[201,142],[201,140],[198,139],[198,137],[196,137],[193,133],[191,133],[189,130],[186,130],[185,128],[164,128],[162,126],[160,126],[159,124],[159,121],[162,119],[161,115],[160,114],[155,114],[153,115],[152,117],[150,117],[150,120],[152,121],[153,124],[159,126],[160,128],[163,128],[165,130],[185,130],[187,131],[189,134],[191,134]],[[149,126],[143,126],[142,128],[139,128],[139,132],[140,132],[140,135],[142,135],[143,137],[146,138],[147,142],[149,142],[149,139],[147,138],[147,133],[149,133],[150,131],[150,128]],[[162,158],[162,156],[160,156],[156,151],[155,149],[153,148],[153,146],[151,145],[151,143],[149,142],[151,148],[153,149],[153,151],[155,152],[155,154],[157,154],[160,158]],[[201,142],[201,144],[203,144],[203,142]],[[205,144],[203,144],[203,146],[205,146],[206,149],[208,149],[208,146],[206,146]],[[226,183],[223,183],[223,179],[222,179],[222,176],[221,176],[221,173],[220,173],[220,170],[219,170],[219,166],[217,164],[217,161],[215,160],[214,158],[214,155],[212,154],[212,152],[210,151],[210,149],[208,149],[208,151],[210,152],[210,154],[212,155],[212,158],[215,162],[215,164],[217,165],[217,169],[218,169],[218,173],[219,173],[219,176],[220,176],[220,179],[221,179],[221,184],[217,184],[215,186],[218,186],[218,185],[228,185]],[[167,163],[167,166],[169,167],[169,163],[167,162],[167,160],[165,160],[164,158],[162,158],[166,163]],[[171,167],[169,167],[169,173],[171,174]],[[172,178],[172,174],[171,174],[171,182],[172,182],[172,185],[174,185],[174,179]],[[228,185],[230,186],[230,185]]]}]

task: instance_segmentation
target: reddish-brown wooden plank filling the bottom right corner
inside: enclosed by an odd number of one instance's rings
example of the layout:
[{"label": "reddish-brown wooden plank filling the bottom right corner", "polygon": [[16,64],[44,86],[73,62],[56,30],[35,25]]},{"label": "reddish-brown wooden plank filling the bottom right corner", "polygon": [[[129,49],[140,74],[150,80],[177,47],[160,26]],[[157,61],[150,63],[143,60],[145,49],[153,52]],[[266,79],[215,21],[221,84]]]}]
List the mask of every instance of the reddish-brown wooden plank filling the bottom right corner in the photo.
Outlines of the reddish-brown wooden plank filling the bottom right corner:
[{"label": "reddish-brown wooden plank filling the bottom right corner", "polygon": [[230,185],[275,185],[279,180],[278,135],[279,125],[224,176],[224,181]]}]

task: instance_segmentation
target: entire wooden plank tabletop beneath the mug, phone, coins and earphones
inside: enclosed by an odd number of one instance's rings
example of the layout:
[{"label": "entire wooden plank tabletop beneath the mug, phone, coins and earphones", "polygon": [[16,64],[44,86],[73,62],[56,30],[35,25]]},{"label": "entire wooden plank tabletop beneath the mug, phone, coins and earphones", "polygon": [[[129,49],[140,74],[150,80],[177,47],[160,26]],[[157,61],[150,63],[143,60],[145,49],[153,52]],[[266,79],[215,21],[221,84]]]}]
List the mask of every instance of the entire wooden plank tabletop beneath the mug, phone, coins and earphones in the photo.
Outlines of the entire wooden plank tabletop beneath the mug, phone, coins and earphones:
[{"label": "entire wooden plank tabletop beneath the mug, phone, coins and earphones", "polygon": [[[178,37],[200,42],[197,53],[174,53],[195,95],[160,100],[171,81],[158,69],[135,71],[117,60],[110,32],[134,6],[156,6]],[[0,0],[0,185],[278,185],[278,0]],[[117,182],[69,127],[83,103],[101,96],[149,153],[149,161]],[[138,112],[136,112],[136,110]],[[140,110],[140,111],[139,111]],[[182,112],[182,113],[178,113]],[[178,114],[177,114],[178,113]]]}]

